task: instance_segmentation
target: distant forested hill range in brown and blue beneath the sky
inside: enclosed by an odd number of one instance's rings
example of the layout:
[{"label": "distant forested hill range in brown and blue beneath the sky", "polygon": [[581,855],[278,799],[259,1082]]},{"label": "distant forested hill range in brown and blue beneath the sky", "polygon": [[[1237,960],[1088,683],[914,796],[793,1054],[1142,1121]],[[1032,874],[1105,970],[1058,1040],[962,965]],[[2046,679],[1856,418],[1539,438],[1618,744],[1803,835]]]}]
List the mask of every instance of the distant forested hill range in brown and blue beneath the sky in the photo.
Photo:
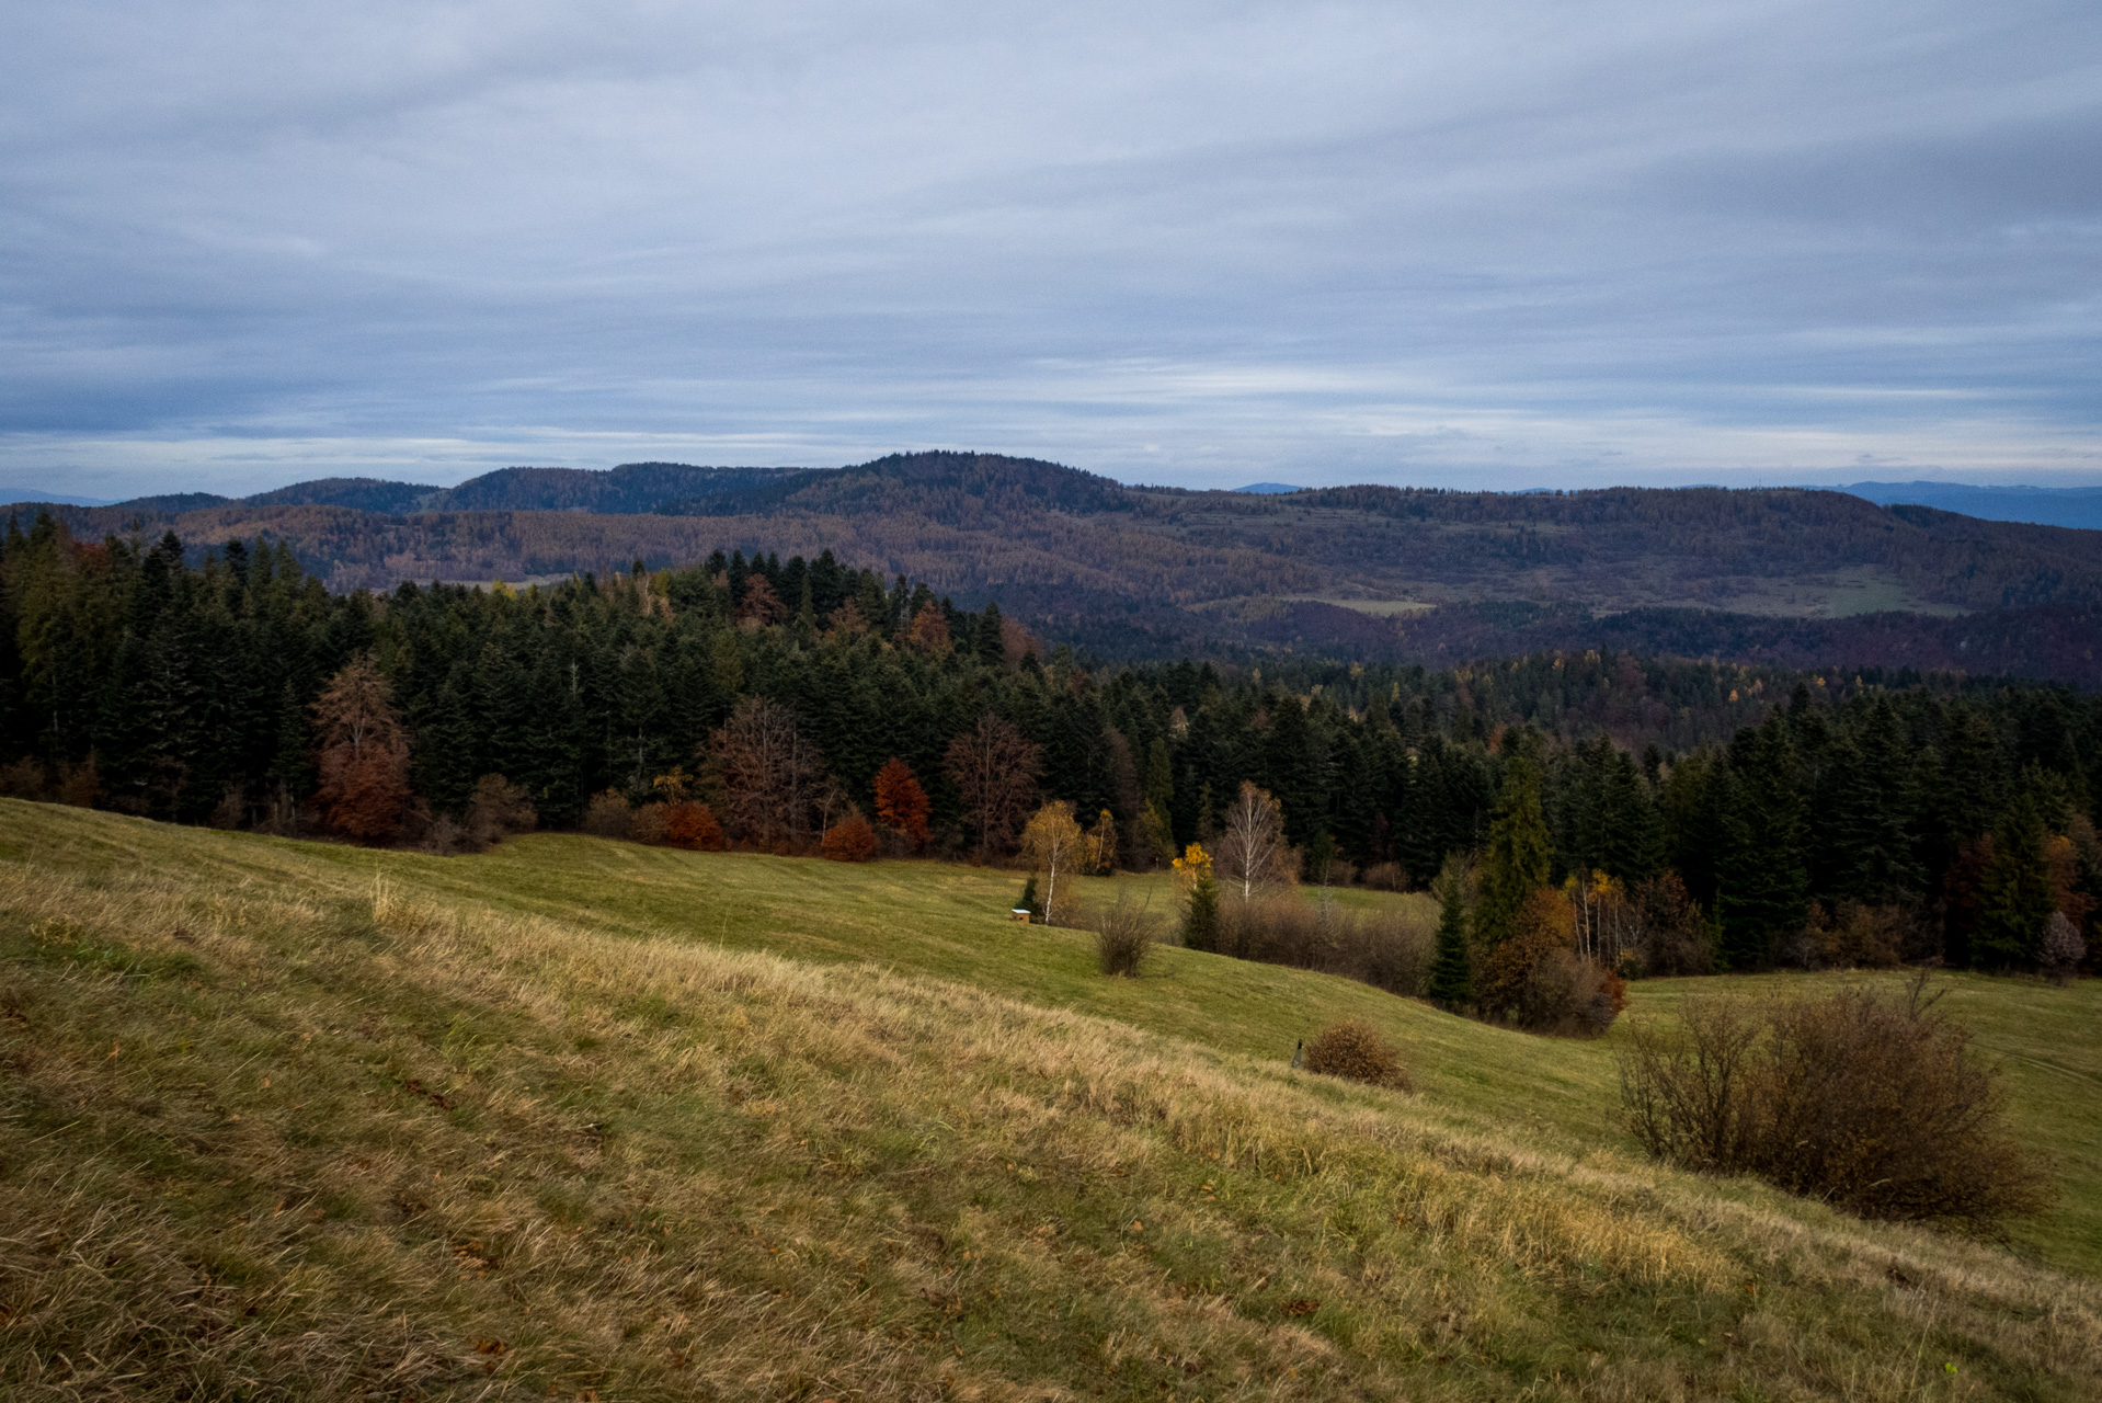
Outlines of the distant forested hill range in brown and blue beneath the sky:
[{"label": "distant forested hill range in brown and blue beneath the sky", "polygon": [[334,591],[830,549],[965,604],[998,599],[1104,656],[1259,648],[1450,663],[1629,648],[2102,686],[2102,532],[1848,492],[1257,496],[925,452],[847,469],[504,469],[450,490],[330,480],[248,501],[53,513],[82,538],[174,530],[193,553],[284,541]]}]

